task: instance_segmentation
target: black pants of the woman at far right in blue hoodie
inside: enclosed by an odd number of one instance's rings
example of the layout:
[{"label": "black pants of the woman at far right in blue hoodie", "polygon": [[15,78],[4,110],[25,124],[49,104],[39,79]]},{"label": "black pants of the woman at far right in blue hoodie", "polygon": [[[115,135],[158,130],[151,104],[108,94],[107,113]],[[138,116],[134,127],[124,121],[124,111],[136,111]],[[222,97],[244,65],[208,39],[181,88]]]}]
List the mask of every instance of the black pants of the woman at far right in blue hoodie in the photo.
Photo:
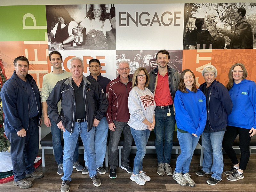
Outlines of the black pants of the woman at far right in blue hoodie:
[{"label": "black pants of the woman at far right in blue hoodie", "polygon": [[227,131],[224,134],[222,147],[227,153],[232,163],[238,164],[236,152],[233,149],[233,143],[236,136],[239,135],[239,148],[241,151],[239,169],[245,170],[246,165],[250,158],[250,142],[252,137],[249,134],[250,129],[244,129],[240,127],[227,126]]}]

